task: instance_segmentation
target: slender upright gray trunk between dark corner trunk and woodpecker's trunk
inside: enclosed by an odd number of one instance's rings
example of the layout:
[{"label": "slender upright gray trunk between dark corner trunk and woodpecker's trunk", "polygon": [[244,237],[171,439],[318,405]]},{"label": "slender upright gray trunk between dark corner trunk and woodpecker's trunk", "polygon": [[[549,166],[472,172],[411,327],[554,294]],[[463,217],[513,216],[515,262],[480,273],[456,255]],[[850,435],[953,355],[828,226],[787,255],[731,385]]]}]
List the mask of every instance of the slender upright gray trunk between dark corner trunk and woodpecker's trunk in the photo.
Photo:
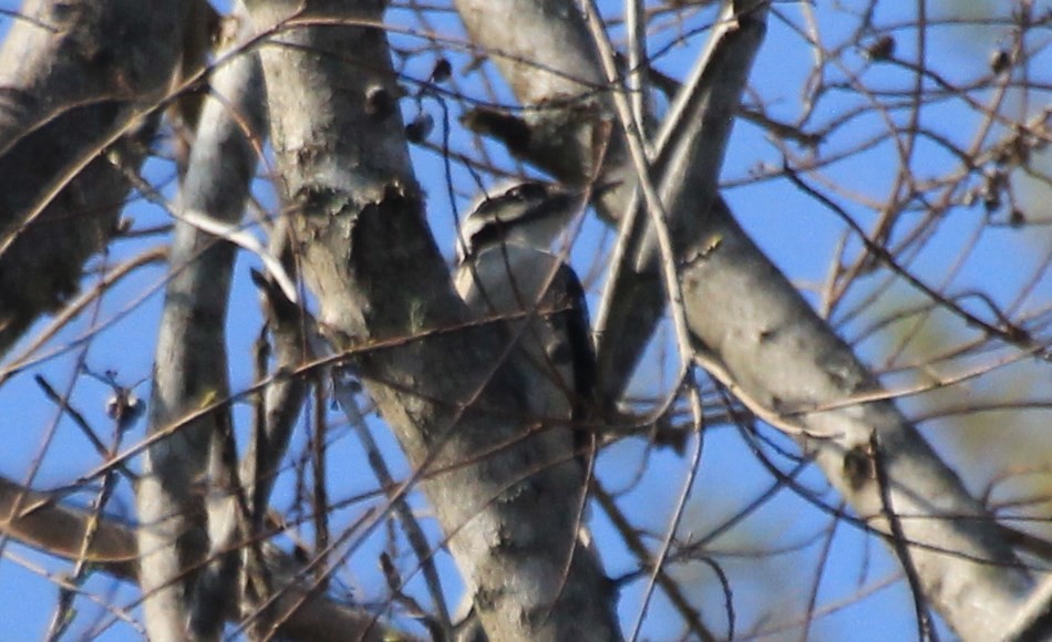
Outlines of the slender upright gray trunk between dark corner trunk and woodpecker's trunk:
[{"label": "slender upright gray trunk between dark corner trunk and woodpecker's trunk", "polygon": [[[174,207],[175,241],[155,355],[147,435],[136,500],[140,586],[154,640],[217,639],[238,605],[237,548],[226,501],[236,476],[230,408],[184,417],[229,395],[226,313],[237,247],[198,228],[204,218],[241,219],[266,126],[255,55],[238,54],[213,77]],[[190,218],[187,218],[190,217]]]}]

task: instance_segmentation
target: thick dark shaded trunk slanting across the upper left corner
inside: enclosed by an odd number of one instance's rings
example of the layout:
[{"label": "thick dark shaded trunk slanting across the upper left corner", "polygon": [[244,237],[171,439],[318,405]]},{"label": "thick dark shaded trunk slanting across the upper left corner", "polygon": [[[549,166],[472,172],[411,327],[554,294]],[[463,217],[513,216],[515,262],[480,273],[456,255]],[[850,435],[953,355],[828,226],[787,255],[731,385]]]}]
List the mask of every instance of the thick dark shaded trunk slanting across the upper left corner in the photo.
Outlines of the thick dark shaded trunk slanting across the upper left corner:
[{"label": "thick dark shaded trunk slanting across the upper left corner", "polygon": [[0,50],[0,353],[76,293],[116,231],[187,7],[31,0],[12,22]]}]

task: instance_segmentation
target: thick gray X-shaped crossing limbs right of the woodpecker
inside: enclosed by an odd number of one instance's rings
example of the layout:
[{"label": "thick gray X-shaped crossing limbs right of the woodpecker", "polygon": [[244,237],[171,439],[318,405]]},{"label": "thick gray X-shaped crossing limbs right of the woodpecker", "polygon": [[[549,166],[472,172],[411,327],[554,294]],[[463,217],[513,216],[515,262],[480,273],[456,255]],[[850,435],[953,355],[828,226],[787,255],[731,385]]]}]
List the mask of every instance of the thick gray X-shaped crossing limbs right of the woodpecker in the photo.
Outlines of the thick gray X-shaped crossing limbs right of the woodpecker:
[{"label": "thick gray X-shaped crossing limbs right of the woodpecker", "polygon": [[[525,105],[550,105],[556,99],[590,100],[589,83],[596,82],[598,59],[588,54],[580,14],[566,12],[564,3],[544,0],[520,2],[475,2],[458,0],[473,41],[485,51],[498,52],[494,61],[512,81]],[[723,20],[732,21],[729,41],[750,38],[762,29],[763,3],[726,2]],[[530,39],[514,38],[508,12],[537,14],[547,22],[545,38],[556,48],[533,48]],[[718,24],[719,31],[719,24]],[[719,46],[719,43],[715,43]],[[710,48],[710,50],[712,50]],[[584,53],[581,53],[584,52]],[[530,64],[515,62],[529,60]],[[741,76],[749,59],[726,58],[714,52],[708,61],[723,68],[699,70],[712,74],[710,102],[738,95],[728,80]],[[557,89],[549,70],[563,82]],[[585,82],[587,81],[587,82]],[[677,104],[699,99],[687,92]],[[721,93],[722,92],[722,93]],[[704,100],[693,123],[710,115]],[[548,110],[550,111],[550,108]],[[608,118],[613,108],[607,107]],[[674,107],[670,113],[675,114]],[[548,122],[556,121],[549,116]],[[563,120],[563,127],[529,130],[530,146],[513,147],[524,157],[567,180],[567,174],[550,159],[546,149],[590,144],[580,135],[580,125]],[[720,118],[714,125],[722,126]],[[656,183],[668,208],[670,226],[680,239],[675,246],[681,310],[701,363],[755,413],[798,439],[805,453],[823,469],[829,483],[859,517],[862,524],[885,534],[886,541],[907,571],[919,579],[922,599],[929,601],[949,625],[967,639],[996,639],[1007,631],[1023,605],[1033,580],[1019,563],[993,516],[961,484],[928,446],[895,405],[880,393],[879,385],[835,332],[807,306],[795,288],[760,251],[734,221],[726,205],[713,195],[715,172],[722,162],[722,145],[702,146],[704,136],[683,137],[684,130],[667,136],[677,165],[661,167]],[[687,125],[684,125],[687,126]],[[618,130],[625,131],[626,124]],[[711,138],[709,138],[711,141]],[[615,142],[611,147],[620,148]],[[567,151],[571,157],[588,157],[590,148]],[[713,158],[713,155],[715,157]],[[625,180],[639,167],[626,167],[623,156],[615,158],[604,179]],[[685,163],[685,164],[684,164]],[[708,170],[698,176],[698,166]],[[631,185],[638,180],[632,179]],[[611,219],[630,211],[627,191],[611,194],[602,205]],[[712,205],[709,205],[712,204]],[[600,336],[600,363],[608,394],[623,390],[633,365],[648,343],[657,320],[666,309],[663,279],[656,242],[649,246],[637,231],[630,245],[631,267],[618,277],[616,298],[605,307],[619,311]],[[623,281],[623,282],[622,282]],[[609,341],[605,341],[605,340]],[[611,379],[612,377],[612,379]]]}]

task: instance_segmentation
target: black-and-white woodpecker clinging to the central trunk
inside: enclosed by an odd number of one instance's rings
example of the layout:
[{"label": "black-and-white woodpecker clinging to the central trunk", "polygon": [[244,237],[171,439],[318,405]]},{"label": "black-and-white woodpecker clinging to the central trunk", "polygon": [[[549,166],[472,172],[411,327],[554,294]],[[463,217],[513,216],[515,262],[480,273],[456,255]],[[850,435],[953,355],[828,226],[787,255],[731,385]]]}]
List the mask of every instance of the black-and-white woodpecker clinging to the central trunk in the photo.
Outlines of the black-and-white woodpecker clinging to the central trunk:
[{"label": "black-and-white woodpecker clinging to the central trunk", "polygon": [[[483,198],[461,224],[454,279],[479,318],[517,319],[506,328],[524,352],[529,412],[565,424],[594,407],[596,355],[585,291],[551,245],[586,198],[586,191],[536,180]],[[587,462],[586,433],[559,438]]]}]

